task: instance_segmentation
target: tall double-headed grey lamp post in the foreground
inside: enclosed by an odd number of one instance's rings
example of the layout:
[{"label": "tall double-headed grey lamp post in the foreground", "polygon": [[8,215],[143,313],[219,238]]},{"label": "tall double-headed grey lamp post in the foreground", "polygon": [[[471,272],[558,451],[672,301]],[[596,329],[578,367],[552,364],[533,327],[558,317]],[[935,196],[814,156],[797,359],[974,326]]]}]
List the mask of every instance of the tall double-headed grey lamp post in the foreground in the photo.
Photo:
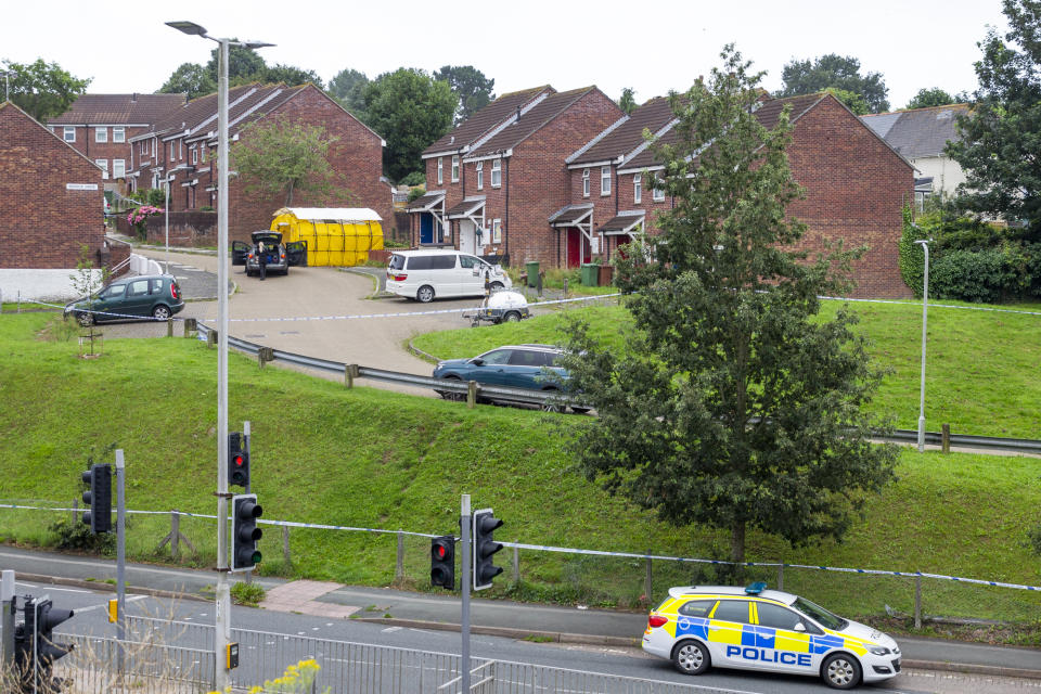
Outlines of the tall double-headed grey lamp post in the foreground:
[{"label": "tall double-headed grey lamp post in the foreground", "polygon": [[217,82],[217,597],[214,652],[215,687],[231,683],[224,651],[231,641],[231,594],[228,587],[228,48],[264,48],[264,41],[234,41],[206,34],[194,22],[167,22],[189,36],[216,41],[219,47]]}]

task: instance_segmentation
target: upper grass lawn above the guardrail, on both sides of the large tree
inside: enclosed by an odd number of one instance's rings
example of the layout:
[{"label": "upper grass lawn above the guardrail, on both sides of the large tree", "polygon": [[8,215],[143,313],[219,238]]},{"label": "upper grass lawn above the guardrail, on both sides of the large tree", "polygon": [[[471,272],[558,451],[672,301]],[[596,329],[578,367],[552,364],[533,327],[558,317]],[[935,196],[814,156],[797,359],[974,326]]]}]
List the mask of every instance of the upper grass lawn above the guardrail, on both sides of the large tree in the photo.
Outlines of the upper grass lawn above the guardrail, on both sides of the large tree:
[{"label": "upper grass lawn above the guardrail, on both sides of the large tree", "polygon": [[[824,301],[822,316],[833,317],[840,306],[840,301]],[[871,410],[892,417],[898,428],[916,429],[922,305],[849,306],[860,317],[857,330],[871,340],[872,357],[891,369]],[[481,330],[429,333],[416,337],[413,344],[440,359],[473,357],[504,344],[560,344],[562,317],[575,310]],[[1028,305],[1023,310],[1037,311],[1039,307]],[[589,320],[594,335],[621,346],[631,320],[625,309],[590,308],[580,314]],[[1041,438],[1039,363],[1041,316],[931,306],[926,347],[926,428],[939,430],[946,423],[956,434]]]}]

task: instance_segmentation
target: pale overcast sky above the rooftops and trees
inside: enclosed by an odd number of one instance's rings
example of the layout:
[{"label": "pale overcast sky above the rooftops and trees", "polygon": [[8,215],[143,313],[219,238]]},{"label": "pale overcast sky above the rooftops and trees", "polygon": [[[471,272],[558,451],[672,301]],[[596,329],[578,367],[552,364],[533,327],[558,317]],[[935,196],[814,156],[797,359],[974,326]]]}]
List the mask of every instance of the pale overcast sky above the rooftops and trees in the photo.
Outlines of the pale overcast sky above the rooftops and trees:
[{"label": "pale overcast sky above the rooftops and trees", "polygon": [[189,20],[211,36],[277,43],[268,64],[313,69],[326,82],[346,67],[370,78],[398,67],[473,65],[496,93],[550,83],[596,85],[617,99],[632,87],[642,103],[683,90],[736,42],[767,89],[792,59],[852,55],[861,74],[882,73],[894,108],[923,87],[976,87],[976,42],[987,25],[1006,29],[1000,0],[185,0],[5,3],[0,59],[42,57],[92,93],[156,91],[178,65],[205,63],[214,43],[164,25]]}]

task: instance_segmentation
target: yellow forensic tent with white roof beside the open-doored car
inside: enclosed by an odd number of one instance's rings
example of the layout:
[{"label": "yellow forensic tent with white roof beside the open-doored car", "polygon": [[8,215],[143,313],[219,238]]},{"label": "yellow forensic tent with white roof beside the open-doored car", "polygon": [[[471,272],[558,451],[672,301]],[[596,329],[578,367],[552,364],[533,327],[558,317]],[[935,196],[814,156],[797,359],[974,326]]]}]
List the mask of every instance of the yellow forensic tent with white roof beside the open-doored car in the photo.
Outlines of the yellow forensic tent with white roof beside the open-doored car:
[{"label": "yellow forensic tent with white roof beside the open-doored car", "polygon": [[349,267],[383,248],[381,221],[368,207],[283,207],[271,231],[282,232],[282,243],[305,242],[309,266]]}]

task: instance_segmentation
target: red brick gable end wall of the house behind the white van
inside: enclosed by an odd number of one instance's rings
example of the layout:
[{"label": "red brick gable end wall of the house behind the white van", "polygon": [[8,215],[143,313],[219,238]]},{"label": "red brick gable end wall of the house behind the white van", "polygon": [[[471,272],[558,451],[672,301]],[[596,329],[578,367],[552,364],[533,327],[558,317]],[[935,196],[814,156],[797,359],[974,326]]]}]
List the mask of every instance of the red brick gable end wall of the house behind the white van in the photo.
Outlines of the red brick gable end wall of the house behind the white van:
[{"label": "red brick gable end wall of the house behind the white van", "polygon": [[[563,262],[563,233],[552,229],[548,220],[568,202],[569,177],[564,159],[621,115],[611,99],[594,89],[514,147],[509,179],[503,172],[503,198],[505,187],[510,187],[509,215],[504,200],[493,203],[489,195],[486,207],[489,219],[504,220],[503,241],[507,243],[501,250],[509,252],[512,265],[538,260],[543,267],[556,267]],[[599,189],[593,193],[599,195]]]}]

